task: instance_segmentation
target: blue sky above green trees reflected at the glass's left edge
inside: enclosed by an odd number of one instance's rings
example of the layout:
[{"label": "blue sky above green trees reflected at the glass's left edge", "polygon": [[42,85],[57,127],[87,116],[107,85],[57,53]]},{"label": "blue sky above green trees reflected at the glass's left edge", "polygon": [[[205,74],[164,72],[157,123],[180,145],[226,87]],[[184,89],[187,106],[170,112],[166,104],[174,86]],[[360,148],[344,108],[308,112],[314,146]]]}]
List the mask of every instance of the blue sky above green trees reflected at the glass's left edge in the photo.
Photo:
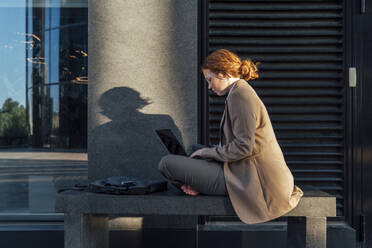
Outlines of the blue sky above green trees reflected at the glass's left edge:
[{"label": "blue sky above green trees reflected at the glass's left edge", "polygon": [[0,8],[0,147],[27,143],[25,23],[24,8]]}]

